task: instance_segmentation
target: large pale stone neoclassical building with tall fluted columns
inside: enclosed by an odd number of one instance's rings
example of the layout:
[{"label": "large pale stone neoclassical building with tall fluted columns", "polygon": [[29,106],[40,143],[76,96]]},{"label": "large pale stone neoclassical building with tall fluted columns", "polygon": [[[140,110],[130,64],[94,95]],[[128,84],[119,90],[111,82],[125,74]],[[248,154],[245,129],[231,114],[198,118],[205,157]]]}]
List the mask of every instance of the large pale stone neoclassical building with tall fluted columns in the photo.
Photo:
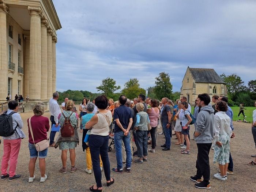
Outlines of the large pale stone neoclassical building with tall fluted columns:
[{"label": "large pale stone neoclassical building with tall fluted columns", "polygon": [[7,94],[47,101],[56,91],[56,31],[52,0],[0,0],[0,103]]}]

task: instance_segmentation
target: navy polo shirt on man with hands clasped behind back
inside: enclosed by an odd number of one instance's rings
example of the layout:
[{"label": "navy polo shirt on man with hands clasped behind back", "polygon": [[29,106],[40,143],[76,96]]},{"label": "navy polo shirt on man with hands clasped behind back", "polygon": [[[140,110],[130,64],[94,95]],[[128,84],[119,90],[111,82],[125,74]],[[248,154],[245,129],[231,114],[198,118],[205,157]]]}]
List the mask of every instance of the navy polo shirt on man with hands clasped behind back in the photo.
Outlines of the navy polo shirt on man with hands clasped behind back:
[{"label": "navy polo shirt on man with hands clasped behind back", "polygon": [[[114,119],[119,119],[121,125],[124,129],[128,128],[129,120],[132,118],[132,112],[131,109],[129,109],[127,106],[120,105],[118,108],[114,110]],[[116,124],[115,121],[115,127],[114,132],[122,131],[120,127]]]}]

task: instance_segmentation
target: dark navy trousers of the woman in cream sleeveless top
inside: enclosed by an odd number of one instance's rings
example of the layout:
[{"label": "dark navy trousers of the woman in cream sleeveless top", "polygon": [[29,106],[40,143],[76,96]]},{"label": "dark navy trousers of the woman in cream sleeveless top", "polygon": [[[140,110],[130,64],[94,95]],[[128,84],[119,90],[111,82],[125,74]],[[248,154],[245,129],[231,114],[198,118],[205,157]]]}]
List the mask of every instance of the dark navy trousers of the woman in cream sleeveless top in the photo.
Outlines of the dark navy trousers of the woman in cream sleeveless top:
[{"label": "dark navy trousers of the woman in cream sleeveless top", "polygon": [[101,155],[104,174],[107,181],[110,181],[110,163],[108,156],[109,136],[90,135],[89,147],[91,152],[91,160],[93,162],[93,172],[97,187],[102,187],[101,184],[101,168],[99,165],[99,155]]}]

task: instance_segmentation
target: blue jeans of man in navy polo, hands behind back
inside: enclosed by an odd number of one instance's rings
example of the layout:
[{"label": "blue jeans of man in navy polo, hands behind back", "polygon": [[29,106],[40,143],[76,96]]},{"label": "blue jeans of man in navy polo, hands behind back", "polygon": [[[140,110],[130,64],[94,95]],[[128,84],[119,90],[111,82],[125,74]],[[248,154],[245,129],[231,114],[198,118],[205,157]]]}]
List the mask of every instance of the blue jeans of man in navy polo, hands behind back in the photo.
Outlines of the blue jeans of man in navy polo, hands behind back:
[{"label": "blue jeans of man in navy polo, hands behind back", "polygon": [[127,136],[124,136],[123,131],[117,131],[114,134],[114,142],[116,148],[116,161],[117,169],[123,169],[122,164],[122,141],[124,142],[124,147],[126,151],[126,167],[131,167],[132,156],[131,156],[131,147],[130,147],[130,133]]}]

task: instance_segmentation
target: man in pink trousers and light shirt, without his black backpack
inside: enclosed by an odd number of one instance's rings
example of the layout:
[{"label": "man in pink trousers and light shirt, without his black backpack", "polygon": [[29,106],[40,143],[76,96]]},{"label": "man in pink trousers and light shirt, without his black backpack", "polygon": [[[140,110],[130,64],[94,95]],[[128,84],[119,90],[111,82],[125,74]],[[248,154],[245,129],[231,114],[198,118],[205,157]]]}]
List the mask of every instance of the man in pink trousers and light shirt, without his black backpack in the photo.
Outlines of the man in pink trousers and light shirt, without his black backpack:
[{"label": "man in pink trousers and light shirt, without his black backpack", "polygon": [[[12,116],[12,126],[16,131],[7,137],[3,137],[4,140],[4,153],[1,163],[1,180],[5,180],[9,177],[8,181],[14,181],[21,177],[20,174],[16,174],[16,166],[18,163],[18,156],[20,150],[21,139],[25,138],[25,134],[21,130],[23,128],[23,121],[18,112],[17,101],[8,102],[8,110],[6,114],[11,114]],[[7,173],[7,168],[9,165],[9,174]]]}]

